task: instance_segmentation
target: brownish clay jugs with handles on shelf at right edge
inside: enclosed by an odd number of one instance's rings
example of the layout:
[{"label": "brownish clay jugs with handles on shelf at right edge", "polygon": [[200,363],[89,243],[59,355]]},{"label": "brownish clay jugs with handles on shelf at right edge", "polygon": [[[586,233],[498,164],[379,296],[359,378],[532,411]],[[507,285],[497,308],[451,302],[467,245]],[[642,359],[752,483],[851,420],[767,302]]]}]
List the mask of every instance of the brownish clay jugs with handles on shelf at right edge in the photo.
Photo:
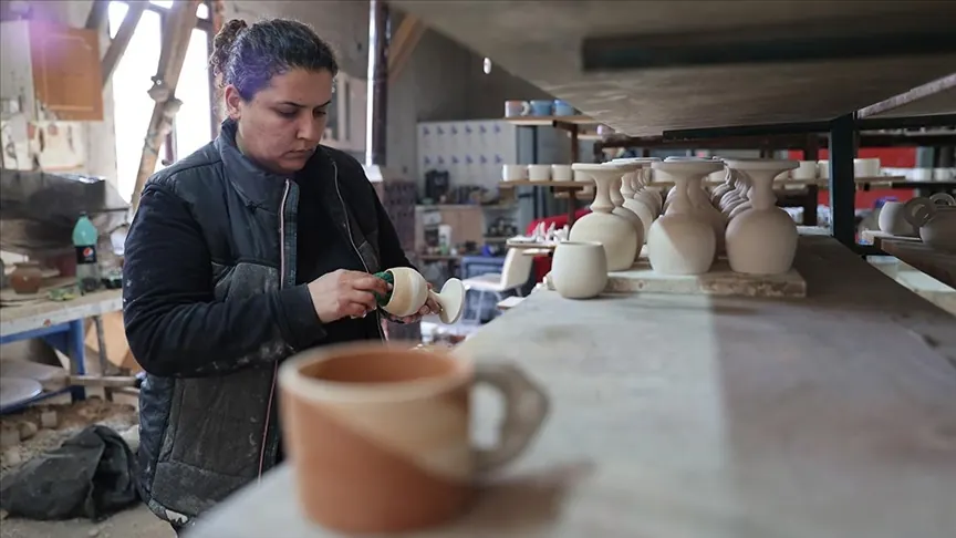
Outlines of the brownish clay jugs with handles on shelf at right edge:
[{"label": "brownish clay jugs with handles on shelf at right edge", "polygon": [[886,201],[880,209],[880,230],[893,236],[919,237],[939,250],[956,250],[956,198],[936,193],[928,198]]}]

